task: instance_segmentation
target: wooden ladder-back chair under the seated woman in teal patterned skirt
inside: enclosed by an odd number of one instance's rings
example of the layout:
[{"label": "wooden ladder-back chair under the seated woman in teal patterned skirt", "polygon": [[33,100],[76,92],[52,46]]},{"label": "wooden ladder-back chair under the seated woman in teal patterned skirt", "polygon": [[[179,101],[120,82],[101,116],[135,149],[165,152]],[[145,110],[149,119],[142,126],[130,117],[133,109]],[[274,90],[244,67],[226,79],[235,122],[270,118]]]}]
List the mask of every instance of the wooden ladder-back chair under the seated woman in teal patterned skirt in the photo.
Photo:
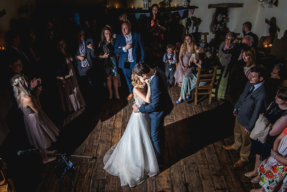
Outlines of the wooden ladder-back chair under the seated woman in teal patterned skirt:
[{"label": "wooden ladder-back chair under the seated woman in teal patterned skirt", "polygon": [[[197,104],[197,96],[198,95],[203,95],[203,94],[209,94],[208,103],[211,104],[212,88],[213,88],[213,83],[214,83],[214,79],[215,79],[215,76],[216,76],[216,70],[217,70],[218,66],[215,66],[213,68],[214,68],[214,71],[213,71],[212,74],[201,74],[201,71],[205,71],[205,70],[202,69],[202,68],[199,68],[199,67],[196,68],[196,70],[198,70],[198,76],[197,76],[197,81],[196,81],[196,86],[195,86],[194,104]],[[198,87],[199,82],[210,82],[210,83]],[[201,90],[201,89],[207,89],[207,91],[199,93],[198,90]]]}]

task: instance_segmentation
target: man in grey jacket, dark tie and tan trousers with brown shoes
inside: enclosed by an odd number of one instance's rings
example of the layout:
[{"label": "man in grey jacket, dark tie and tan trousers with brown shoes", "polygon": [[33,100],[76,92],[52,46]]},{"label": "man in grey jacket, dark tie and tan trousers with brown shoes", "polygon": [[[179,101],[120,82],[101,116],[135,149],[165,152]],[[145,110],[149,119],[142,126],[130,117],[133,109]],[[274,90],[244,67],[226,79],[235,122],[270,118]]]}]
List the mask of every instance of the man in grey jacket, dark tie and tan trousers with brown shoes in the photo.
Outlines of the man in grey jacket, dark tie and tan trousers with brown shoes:
[{"label": "man in grey jacket, dark tie and tan trousers with brown shoes", "polygon": [[268,107],[269,90],[264,82],[267,70],[263,66],[251,68],[251,76],[247,82],[239,101],[235,104],[233,114],[236,116],[234,126],[234,144],[223,145],[227,150],[238,150],[240,147],[240,160],[234,167],[242,167],[249,161],[251,138],[250,133],[255,126],[259,114],[264,113]]}]

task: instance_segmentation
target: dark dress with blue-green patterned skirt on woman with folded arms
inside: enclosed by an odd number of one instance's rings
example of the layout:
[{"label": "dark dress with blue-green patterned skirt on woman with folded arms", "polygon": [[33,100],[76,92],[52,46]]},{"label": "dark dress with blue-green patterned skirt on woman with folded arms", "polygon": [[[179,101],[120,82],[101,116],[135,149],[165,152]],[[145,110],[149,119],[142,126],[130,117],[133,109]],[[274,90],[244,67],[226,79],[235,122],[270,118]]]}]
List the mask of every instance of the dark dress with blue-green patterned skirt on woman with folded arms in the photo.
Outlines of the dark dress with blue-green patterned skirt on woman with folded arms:
[{"label": "dark dress with blue-green patterned skirt on woman with folded arms", "polygon": [[103,45],[105,45],[109,50],[108,58],[100,58],[100,67],[102,68],[102,74],[105,77],[118,76],[118,60],[117,56],[114,54],[114,41],[112,43],[105,43],[101,41],[99,48],[99,55],[104,55]]}]

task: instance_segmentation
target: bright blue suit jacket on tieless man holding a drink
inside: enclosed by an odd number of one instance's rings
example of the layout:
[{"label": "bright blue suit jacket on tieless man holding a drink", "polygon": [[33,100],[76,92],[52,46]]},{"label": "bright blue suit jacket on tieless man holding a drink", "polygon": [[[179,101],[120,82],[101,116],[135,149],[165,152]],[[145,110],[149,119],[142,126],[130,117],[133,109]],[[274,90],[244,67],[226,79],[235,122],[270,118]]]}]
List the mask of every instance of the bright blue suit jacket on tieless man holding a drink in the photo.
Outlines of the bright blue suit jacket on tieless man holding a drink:
[{"label": "bright blue suit jacket on tieless man holding a drink", "polygon": [[[133,58],[134,58],[134,62],[131,62],[131,69],[134,69],[134,66],[137,63],[144,61],[145,47],[139,33],[132,32],[131,36],[133,41]],[[122,69],[124,68],[124,62],[126,61],[128,50],[127,52],[124,52],[123,48],[119,47],[124,47],[126,45],[127,42],[125,40],[124,34],[122,33],[119,34],[114,43],[114,53],[120,55],[119,68]]]}]

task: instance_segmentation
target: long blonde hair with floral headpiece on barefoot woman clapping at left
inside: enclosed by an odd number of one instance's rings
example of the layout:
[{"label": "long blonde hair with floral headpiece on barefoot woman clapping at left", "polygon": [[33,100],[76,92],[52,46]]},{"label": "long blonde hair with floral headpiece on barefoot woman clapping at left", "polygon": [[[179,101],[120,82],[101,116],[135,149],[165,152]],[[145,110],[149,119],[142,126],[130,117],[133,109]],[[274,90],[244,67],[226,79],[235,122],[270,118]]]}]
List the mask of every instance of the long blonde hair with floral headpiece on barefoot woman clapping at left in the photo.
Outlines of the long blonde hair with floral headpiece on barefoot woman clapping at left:
[{"label": "long blonde hair with floral headpiece on barefoot woman clapping at left", "polygon": [[31,97],[27,81],[28,78],[22,73],[15,74],[10,81],[19,108],[21,107],[21,96],[20,96],[21,94],[28,95],[29,97]]}]

